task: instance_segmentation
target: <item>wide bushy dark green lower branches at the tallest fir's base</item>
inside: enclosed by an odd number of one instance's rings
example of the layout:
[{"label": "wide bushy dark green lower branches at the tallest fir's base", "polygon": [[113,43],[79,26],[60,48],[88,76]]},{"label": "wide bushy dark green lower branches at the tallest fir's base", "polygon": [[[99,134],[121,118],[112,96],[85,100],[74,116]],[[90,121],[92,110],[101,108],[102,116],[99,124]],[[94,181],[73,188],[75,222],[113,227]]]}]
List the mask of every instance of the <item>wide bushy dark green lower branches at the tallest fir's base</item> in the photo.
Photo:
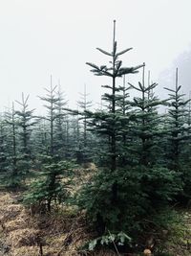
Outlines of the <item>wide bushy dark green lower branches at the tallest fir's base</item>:
[{"label": "wide bushy dark green lower branches at the tallest fir's base", "polygon": [[[117,198],[113,182],[117,180]],[[134,237],[143,229],[143,220],[164,207],[180,191],[180,176],[165,168],[127,167],[114,173],[101,170],[83,187],[78,204],[86,209],[97,230],[123,230]]]}]

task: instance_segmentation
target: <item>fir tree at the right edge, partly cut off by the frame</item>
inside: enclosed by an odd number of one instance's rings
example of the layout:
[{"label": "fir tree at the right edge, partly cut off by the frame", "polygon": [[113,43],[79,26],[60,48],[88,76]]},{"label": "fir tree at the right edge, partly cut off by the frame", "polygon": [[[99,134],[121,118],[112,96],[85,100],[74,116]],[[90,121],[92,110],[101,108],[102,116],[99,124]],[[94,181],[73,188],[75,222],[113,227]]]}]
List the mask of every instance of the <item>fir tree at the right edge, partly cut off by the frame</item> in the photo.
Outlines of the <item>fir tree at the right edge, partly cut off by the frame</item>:
[{"label": "fir tree at the right edge, partly cut off by the frame", "polygon": [[[191,198],[190,183],[190,127],[189,107],[190,99],[184,100],[185,94],[180,93],[179,73],[176,69],[175,89],[166,88],[169,92],[169,104],[167,114],[167,136],[166,136],[166,161],[170,170],[181,175],[183,191],[180,192],[179,200]],[[189,109],[188,109],[189,110]],[[188,121],[188,124],[186,124]]]}]

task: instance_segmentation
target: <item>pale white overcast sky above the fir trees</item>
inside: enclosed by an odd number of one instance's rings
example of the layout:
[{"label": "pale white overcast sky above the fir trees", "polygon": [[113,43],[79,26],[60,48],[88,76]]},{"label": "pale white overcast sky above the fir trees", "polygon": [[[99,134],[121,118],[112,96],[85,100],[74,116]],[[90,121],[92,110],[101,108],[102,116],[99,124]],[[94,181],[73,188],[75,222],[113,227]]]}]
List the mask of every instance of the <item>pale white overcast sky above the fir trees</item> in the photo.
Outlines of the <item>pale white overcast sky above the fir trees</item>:
[{"label": "pale white overcast sky above the fir trees", "polygon": [[118,50],[134,48],[123,64],[146,62],[152,80],[159,81],[191,49],[190,12],[190,0],[0,0],[0,109],[22,92],[40,109],[36,96],[44,94],[51,74],[72,106],[84,83],[90,99],[99,102],[105,80],[85,62],[109,60],[96,47],[111,50],[114,19]]}]

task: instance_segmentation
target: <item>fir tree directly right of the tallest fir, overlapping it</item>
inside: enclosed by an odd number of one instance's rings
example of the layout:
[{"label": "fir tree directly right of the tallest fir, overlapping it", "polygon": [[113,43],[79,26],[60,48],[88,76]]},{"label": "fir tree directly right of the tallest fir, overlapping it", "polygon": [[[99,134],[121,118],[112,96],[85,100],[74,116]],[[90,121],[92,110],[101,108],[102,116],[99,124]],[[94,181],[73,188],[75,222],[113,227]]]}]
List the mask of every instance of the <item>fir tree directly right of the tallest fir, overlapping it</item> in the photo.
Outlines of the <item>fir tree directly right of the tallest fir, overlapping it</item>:
[{"label": "fir tree directly right of the tallest fir, overlapping it", "polygon": [[[142,81],[138,86],[129,83],[140,96],[134,97],[131,116],[131,128],[129,130],[132,144],[128,151],[131,152],[135,175],[139,181],[139,191],[145,195],[147,211],[150,213],[163,207],[180,191],[180,176],[169,171],[162,165],[161,139],[164,130],[160,128],[162,116],[158,113],[159,105],[166,104],[155,95],[156,82],[145,82],[145,65],[143,66]],[[178,183],[177,183],[178,182]]]}]

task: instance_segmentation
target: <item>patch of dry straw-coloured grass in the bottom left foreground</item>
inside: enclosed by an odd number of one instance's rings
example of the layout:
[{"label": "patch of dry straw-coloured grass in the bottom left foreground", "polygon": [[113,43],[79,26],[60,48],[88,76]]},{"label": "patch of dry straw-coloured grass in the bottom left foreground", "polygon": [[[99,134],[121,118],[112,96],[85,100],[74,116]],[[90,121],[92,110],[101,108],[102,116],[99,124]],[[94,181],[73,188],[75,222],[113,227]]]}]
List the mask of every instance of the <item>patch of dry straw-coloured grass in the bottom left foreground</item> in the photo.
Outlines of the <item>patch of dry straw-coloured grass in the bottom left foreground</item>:
[{"label": "patch of dry straw-coloured grass in the bottom left foreground", "polygon": [[77,247],[91,238],[84,216],[75,209],[32,217],[15,199],[15,194],[0,193],[0,233],[10,248],[5,255],[39,256],[42,244],[43,255],[74,256],[79,255]]}]

